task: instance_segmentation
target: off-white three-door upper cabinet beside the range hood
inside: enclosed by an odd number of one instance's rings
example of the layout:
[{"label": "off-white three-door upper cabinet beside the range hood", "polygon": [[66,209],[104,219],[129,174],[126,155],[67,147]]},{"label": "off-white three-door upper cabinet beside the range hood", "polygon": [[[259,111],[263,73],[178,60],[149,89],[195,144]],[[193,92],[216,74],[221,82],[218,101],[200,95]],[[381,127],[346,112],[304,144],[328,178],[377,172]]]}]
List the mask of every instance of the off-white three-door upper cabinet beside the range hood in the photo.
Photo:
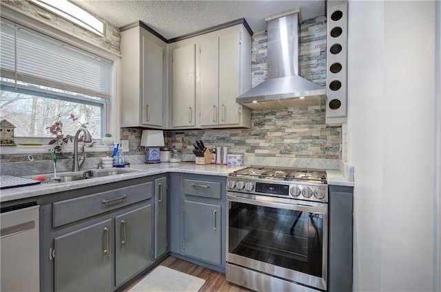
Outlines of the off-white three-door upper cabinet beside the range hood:
[{"label": "off-white three-door upper cabinet beside the range hood", "polygon": [[173,44],[173,127],[251,127],[236,103],[251,87],[251,39],[238,24]]}]

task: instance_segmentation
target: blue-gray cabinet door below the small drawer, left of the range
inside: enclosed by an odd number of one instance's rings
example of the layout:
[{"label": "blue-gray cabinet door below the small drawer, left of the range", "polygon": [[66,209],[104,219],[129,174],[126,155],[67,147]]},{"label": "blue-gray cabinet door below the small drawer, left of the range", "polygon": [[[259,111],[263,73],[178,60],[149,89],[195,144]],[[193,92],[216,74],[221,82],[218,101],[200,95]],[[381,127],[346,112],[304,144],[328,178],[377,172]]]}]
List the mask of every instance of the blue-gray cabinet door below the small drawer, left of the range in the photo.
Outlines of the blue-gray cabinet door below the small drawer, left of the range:
[{"label": "blue-gray cabinet door below the small drawer, left of the range", "polygon": [[184,252],[193,258],[221,264],[221,207],[184,201]]}]

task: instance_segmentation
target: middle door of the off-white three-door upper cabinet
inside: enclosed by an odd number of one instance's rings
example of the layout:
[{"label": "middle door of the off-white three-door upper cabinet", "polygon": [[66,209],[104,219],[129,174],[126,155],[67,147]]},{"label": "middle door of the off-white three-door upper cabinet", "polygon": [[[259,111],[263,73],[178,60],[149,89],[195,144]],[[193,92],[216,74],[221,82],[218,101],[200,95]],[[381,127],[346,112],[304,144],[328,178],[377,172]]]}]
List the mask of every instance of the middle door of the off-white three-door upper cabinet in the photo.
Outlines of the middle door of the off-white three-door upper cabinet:
[{"label": "middle door of the off-white three-door upper cabinet", "polygon": [[219,38],[199,46],[199,113],[201,126],[218,125],[219,118]]}]

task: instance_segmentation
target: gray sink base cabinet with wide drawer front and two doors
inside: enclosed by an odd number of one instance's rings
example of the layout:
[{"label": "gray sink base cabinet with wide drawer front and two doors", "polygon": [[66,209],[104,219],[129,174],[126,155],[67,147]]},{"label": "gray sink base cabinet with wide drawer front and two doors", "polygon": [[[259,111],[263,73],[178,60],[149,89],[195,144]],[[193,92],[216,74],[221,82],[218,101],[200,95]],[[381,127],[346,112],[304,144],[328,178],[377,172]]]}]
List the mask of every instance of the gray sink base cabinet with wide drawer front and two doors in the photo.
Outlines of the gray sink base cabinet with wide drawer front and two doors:
[{"label": "gray sink base cabinet with wide drawer front and two doors", "polygon": [[41,198],[41,291],[114,291],[153,264],[153,180]]}]

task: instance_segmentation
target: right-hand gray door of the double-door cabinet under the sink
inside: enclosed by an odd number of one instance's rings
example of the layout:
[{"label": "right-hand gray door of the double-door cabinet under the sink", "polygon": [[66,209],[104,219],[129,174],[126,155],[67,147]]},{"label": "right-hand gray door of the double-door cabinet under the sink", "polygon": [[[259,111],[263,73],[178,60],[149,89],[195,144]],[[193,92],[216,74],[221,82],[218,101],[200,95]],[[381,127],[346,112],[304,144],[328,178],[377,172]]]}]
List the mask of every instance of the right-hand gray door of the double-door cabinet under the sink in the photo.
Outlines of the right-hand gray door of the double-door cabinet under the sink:
[{"label": "right-hand gray door of the double-door cabinet under the sink", "polygon": [[152,205],[115,218],[115,281],[123,284],[152,262]]}]

